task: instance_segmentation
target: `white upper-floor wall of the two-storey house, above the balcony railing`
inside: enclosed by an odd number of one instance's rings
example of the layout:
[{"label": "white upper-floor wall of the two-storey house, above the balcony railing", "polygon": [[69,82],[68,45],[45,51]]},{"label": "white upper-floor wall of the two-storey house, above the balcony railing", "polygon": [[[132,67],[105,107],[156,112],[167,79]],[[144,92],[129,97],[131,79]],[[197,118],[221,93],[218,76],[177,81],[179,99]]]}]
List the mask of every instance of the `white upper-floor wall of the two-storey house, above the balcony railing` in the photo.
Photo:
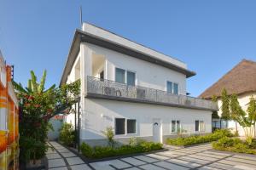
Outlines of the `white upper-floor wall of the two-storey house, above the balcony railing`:
[{"label": "white upper-floor wall of the two-storey house, above the balcony railing", "polygon": [[166,91],[166,82],[178,83],[179,94],[186,94],[186,76],[160,65],[154,65],[142,59],[120,54],[107,48],[85,43],[92,54],[100,54],[106,59],[105,78],[115,80],[115,68],[136,72],[136,85]]}]

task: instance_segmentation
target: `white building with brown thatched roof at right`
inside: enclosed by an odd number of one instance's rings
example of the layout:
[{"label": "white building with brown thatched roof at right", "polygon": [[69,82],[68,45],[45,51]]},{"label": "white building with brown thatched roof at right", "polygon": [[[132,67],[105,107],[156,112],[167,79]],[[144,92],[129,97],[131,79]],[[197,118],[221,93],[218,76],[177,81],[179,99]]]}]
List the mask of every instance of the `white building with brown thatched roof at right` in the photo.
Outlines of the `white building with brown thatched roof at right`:
[{"label": "white building with brown thatched roof at right", "polygon": [[[221,92],[226,89],[228,94],[237,94],[239,104],[244,111],[247,111],[247,104],[251,96],[256,94],[256,62],[242,59],[231,71],[221,77],[210,88],[207,88],[200,97],[203,99],[211,99],[213,95],[218,97],[218,116],[221,116]],[[229,127],[236,129],[236,123],[233,121],[225,122],[219,119],[212,119],[212,127]],[[238,126],[238,133],[243,136],[242,127]]]}]

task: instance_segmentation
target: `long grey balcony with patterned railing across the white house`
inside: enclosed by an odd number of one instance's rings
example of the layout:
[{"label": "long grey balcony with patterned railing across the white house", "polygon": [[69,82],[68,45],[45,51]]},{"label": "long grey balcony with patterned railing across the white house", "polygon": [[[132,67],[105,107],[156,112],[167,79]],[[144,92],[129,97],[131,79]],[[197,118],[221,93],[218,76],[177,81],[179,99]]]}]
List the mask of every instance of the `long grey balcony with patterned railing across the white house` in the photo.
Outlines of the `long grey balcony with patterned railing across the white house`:
[{"label": "long grey balcony with patterned railing across the white house", "polygon": [[87,77],[87,98],[115,99],[129,102],[218,111],[218,105],[206,99],[175,95],[166,91]]}]

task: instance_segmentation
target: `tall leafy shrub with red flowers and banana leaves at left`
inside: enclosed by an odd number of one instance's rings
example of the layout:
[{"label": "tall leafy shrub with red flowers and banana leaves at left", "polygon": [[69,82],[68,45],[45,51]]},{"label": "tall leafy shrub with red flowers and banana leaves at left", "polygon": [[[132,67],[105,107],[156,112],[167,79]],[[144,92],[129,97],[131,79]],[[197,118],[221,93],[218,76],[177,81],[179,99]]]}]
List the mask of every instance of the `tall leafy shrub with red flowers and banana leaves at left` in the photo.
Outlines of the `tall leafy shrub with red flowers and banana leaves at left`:
[{"label": "tall leafy shrub with red flowers and banana leaves at left", "polygon": [[48,145],[46,143],[49,128],[49,119],[61,111],[71,110],[79,95],[80,82],[63,85],[55,88],[55,85],[45,90],[46,71],[38,82],[34,72],[27,87],[14,82],[15,93],[20,99],[20,158],[28,161],[42,158]]}]

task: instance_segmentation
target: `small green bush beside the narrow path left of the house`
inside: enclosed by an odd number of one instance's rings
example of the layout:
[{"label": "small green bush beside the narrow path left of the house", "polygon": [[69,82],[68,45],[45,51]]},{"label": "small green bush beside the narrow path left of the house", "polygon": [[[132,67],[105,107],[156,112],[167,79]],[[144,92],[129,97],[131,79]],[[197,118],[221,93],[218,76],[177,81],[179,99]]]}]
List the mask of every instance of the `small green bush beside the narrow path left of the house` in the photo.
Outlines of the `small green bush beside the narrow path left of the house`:
[{"label": "small green bush beside the narrow path left of the house", "polygon": [[65,122],[60,129],[61,144],[65,144],[67,146],[73,146],[74,139],[75,139],[75,135],[74,135],[72,124]]}]

